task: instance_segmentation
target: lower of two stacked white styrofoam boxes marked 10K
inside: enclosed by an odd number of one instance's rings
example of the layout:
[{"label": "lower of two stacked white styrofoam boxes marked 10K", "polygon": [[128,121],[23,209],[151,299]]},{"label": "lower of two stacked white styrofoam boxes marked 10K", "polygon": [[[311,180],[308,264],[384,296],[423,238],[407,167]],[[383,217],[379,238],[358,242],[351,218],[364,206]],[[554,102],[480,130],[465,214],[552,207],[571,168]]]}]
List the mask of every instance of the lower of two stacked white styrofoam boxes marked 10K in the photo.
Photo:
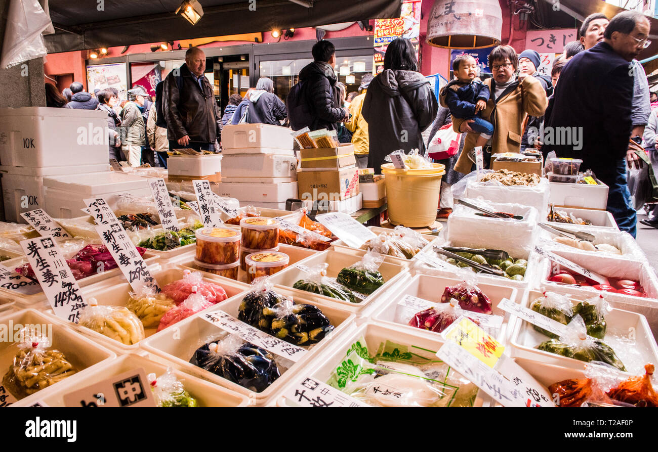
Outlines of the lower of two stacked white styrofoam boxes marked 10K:
[{"label": "lower of two stacked white styrofoam boxes marked 10K", "polygon": [[53,166],[46,168],[0,166],[2,193],[5,202],[5,219],[17,223],[26,223],[20,214],[39,208],[45,209],[44,177],[57,174],[93,173],[108,170],[109,164],[67,167]]}]

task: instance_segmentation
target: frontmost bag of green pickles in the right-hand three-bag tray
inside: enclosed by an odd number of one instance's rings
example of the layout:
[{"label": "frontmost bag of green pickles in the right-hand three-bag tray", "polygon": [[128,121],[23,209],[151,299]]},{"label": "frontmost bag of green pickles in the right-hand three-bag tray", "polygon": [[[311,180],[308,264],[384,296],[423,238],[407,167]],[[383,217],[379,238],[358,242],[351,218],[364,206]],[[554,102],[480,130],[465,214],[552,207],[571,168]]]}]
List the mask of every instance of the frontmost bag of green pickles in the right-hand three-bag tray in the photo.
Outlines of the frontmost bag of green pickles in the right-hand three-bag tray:
[{"label": "frontmost bag of green pickles in the right-hand three-bag tray", "polygon": [[619,360],[615,351],[605,342],[587,335],[587,328],[580,315],[574,316],[565,329],[565,333],[558,339],[551,339],[537,346],[538,350],[548,351],[556,355],[578,359],[589,363],[602,361],[620,371],[626,371],[624,364]]}]

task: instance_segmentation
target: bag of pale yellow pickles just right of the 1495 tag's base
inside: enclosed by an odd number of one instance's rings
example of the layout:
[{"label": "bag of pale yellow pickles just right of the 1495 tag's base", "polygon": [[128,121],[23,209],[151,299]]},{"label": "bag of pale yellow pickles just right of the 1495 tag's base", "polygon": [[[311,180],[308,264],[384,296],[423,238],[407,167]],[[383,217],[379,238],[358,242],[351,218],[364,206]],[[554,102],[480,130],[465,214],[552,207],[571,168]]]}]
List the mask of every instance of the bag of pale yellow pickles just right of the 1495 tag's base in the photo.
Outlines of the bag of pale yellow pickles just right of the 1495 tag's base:
[{"label": "bag of pale yellow pickles just right of the 1495 tag's base", "polygon": [[78,325],[99,332],[126,346],[137,344],[145,338],[141,321],[128,308],[98,305],[95,298],[89,298],[89,305],[82,309]]}]

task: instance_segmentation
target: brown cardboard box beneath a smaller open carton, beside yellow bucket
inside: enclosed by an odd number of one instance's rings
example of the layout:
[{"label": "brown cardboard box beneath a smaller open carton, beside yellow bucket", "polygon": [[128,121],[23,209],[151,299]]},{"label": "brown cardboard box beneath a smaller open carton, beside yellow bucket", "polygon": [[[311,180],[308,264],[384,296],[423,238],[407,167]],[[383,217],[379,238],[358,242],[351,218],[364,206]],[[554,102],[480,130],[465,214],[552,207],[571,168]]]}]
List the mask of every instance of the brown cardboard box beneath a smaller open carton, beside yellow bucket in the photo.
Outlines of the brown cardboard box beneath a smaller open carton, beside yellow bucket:
[{"label": "brown cardboard box beneath a smaller open carton, beside yellow bucket", "polygon": [[359,193],[359,173],[357,168],[343,168],[339,171],[304,171],[297,173],[299,199],[344,200]]}]

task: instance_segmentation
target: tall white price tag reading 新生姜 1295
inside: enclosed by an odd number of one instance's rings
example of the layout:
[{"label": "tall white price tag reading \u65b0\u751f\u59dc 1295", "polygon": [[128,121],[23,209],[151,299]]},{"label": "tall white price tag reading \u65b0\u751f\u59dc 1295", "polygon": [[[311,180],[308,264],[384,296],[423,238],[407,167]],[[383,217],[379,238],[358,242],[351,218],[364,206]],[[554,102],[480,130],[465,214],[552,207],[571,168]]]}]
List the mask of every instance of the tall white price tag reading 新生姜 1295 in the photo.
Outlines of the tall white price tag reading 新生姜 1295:
[{"label": "tall white price tag reading \u65b0\u751f\u59dc 1295", "polygon": [[157,281],[151,276],[146,263],[120,223],[99,225],[95,229],[135,292],[139,292],[142,286],[160,292]]}]

